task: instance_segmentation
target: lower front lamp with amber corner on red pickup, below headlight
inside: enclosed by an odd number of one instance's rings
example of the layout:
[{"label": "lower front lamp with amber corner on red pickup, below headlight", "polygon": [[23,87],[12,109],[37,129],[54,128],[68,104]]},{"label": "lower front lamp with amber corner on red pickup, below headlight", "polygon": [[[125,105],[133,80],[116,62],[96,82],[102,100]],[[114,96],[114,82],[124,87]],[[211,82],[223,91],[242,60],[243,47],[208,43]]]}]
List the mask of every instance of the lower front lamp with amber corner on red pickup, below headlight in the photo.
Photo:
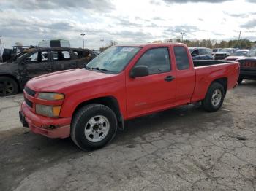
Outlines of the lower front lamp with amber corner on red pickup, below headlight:
[{"label": "lower front lamp with amber corner on red pickup, below headlight", "polygon": [[42,114],[47,117],[59,117],[61,112],[61,106],[45,106],[41,104],[36,104],[36,113]]}]

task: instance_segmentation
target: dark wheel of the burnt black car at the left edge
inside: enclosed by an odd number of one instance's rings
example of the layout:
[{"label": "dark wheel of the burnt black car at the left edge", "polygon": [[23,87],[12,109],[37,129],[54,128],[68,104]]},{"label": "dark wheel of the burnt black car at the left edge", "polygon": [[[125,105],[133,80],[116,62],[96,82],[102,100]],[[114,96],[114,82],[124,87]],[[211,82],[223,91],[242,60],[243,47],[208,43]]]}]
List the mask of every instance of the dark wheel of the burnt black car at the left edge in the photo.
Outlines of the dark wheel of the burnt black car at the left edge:
[{"label": "dark wheel of the burnt black car at the left edge", "polygon": [[10,77],[0,77],[0,96],[15,95],[18,93],[18,84]]}]

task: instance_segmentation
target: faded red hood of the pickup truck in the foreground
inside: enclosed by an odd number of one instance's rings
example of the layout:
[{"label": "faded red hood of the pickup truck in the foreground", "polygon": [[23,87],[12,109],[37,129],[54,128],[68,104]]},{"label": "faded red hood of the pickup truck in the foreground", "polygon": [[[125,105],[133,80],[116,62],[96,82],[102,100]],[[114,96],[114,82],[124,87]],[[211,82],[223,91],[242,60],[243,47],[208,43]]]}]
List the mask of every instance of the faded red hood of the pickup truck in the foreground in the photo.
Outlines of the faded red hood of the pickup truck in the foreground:
[{"label": "faded red hood of the pickup truck in the foreground", "polygon": [[56,92],[64,90],[64,88],[69,88],[78,84],[84,84],[84,87],[90,87],[96,85],[96,81],[102,80],[104,83],[112,82],[113,80],[108,80],[116,76],[116,74],[106,74],[97,71],[89,71],[86,69],[71,69],[66,71],[57,71],[50,74],[45,74],[39,77],[35,77],[26,86],[35,91],[45,91],[45,92]]}]

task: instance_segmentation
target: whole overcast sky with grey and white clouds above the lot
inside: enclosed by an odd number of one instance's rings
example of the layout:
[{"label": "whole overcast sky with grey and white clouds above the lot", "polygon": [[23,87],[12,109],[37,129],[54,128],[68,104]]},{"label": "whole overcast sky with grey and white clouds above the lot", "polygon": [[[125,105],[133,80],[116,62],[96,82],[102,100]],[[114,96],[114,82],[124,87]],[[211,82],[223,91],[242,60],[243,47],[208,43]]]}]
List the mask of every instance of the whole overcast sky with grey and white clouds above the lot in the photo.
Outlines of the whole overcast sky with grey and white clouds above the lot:
[{"label": "whole overcast sky with grey and white clouds above the lot", "polygon": [[184,39],[256,40],[256,0],[0,0],[4,47],[69,39],[72,47]]}]

